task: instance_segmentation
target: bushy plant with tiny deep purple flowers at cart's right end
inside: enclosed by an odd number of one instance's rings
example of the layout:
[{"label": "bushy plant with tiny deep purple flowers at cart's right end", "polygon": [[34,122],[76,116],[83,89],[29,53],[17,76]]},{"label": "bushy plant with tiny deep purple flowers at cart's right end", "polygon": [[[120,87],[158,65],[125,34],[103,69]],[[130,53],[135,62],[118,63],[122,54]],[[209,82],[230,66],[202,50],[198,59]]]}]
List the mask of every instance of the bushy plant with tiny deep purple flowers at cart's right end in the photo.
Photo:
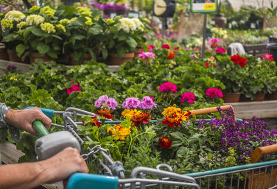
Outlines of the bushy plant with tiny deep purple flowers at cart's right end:
[{"label": "bushy plant with tiny deep purple flowers at cart's right end", "polygon": [[233,110],[226,112],[219,110],[222,119],[211,119],[211,121],[198,121],[199,128],[210,127],[211,130],[220,132],[220,150],[223,154],[228,153],[228,148],[234,148],[239,155],[241,163],[245,163],[245,157],[250,157],[255,148],[269,146],[276,142],[275,130],[267,130],[267,124],[253,117],[242,122],[233,119]]}]

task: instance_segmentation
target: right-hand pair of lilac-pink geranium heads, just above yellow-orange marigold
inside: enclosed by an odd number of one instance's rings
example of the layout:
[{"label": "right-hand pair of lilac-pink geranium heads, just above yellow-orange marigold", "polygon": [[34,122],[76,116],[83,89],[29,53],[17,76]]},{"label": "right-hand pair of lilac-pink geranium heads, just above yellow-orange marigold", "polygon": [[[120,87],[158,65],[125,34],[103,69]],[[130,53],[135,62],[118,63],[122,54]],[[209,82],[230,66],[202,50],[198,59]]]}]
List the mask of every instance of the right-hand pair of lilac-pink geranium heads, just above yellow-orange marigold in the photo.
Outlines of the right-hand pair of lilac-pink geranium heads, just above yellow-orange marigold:
[{"label": "right-hand pair of lilac-pink geranium heads, just above yellow-orange marigold", "polygon": [[150,110],[157,107],[157,103],[154,103],[153,97],[145,96],[143,101],[139,101],[136,97],[129,97],[122,103],[122,108],[141,108],[142,110]]}]

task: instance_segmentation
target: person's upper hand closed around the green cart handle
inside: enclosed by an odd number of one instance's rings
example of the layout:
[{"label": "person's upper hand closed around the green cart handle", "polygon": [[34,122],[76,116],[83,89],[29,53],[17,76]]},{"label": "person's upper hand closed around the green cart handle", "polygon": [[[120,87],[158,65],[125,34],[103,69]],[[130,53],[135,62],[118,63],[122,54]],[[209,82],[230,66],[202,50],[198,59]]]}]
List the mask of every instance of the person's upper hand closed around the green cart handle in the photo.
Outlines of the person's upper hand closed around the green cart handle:
[{"label": "person's upper hand closed around the green cart handle", "polygon": [[26,109],[26,110],[8,110],[6,112],[6,123],[10,125],[30,132],[33,135],[37,135],[37,132],[33,129],[32,123],[35,120],[42,121],[47,130],[51,126],[51,119],[49,119],[42,110],[37,107]]}]

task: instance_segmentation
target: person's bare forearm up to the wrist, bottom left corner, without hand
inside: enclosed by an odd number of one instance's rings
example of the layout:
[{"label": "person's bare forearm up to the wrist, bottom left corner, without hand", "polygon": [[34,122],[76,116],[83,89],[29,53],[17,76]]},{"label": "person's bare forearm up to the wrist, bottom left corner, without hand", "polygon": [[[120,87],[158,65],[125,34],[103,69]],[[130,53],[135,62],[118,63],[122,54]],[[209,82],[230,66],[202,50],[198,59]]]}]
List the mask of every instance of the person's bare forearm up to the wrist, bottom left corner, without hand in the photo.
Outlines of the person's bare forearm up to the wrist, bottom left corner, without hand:
[{"label": "person's bare forearm up to the wrist, bottom left corner, without hand", "polygon": [[43,161],[0,166],[0,188],[34,188],[51,178]]}]

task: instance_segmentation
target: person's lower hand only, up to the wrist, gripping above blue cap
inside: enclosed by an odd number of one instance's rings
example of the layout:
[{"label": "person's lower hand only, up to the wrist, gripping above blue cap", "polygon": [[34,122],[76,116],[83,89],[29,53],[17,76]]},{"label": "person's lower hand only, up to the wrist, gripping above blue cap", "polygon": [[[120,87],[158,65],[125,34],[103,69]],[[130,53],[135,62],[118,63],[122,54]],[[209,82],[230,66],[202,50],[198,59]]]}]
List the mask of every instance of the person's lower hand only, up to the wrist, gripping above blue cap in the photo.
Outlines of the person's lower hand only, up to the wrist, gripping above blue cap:
[{"label": "person's lower hand only, up to the wrist, gripping above blue cap", "polygon": [[74,172],[88,173],[87,163],[81,157],[80,152],[75,148],[65,148],[57,155],[39,161],[45,169],[45,183],[54,183],[67,179]]}]

